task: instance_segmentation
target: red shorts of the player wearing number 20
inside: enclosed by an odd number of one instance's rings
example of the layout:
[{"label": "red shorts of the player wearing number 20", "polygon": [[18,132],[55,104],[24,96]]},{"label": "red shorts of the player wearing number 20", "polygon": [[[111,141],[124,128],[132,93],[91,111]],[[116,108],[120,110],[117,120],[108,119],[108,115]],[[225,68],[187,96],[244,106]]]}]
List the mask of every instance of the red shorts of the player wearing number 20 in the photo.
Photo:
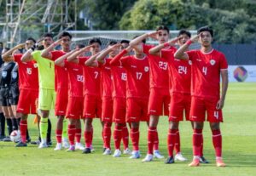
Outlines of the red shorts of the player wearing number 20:
[{"label": "red shorts of the player wearing number 20", "polygon": [[67,118],[80,119],[83,116],[84,97],[69,97],[67,103]]}]

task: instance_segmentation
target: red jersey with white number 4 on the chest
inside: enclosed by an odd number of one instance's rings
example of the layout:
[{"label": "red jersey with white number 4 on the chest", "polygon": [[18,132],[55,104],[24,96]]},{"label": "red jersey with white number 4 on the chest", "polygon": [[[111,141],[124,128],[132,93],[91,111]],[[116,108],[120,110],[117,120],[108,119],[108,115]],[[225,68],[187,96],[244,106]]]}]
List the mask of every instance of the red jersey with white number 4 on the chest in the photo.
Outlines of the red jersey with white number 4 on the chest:
[{"label": "red jersey with white number 4 on the chest", "polygon": [[219,99],[220,71],[228,69],[224,54],[215,49],[207,54],[201,50],[192,50],[187,54],[192,61],[191,95]]}]

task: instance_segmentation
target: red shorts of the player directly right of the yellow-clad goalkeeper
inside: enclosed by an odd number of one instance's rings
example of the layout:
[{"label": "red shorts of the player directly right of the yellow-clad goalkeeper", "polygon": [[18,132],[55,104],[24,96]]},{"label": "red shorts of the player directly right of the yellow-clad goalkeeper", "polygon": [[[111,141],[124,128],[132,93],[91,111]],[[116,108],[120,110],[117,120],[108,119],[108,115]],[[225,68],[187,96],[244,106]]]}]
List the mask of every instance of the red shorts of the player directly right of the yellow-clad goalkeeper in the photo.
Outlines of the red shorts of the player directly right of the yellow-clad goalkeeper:
[{"label": "red shorts of the player directly right of the yellow-clad goalkeeper", "polygon": [[55,102],[55,116],[65,116],[67,111],[68,89],[58,88]]}]

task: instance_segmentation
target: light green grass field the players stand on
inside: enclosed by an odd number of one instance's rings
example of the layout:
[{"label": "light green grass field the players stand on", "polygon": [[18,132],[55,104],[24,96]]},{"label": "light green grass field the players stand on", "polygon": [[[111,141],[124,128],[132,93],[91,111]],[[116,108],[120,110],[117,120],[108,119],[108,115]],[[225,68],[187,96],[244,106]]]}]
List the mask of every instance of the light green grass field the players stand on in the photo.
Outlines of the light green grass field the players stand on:
[{"label": "light green grass field the players stand on", "polygon": [[[32,139],[36,139],[38,130],[29,122]],[[55,119],[52,118],[53,124]],[[14,143],[0,142],[0,175],[256,175],[256,83],[230,83],[224,106],[223,156],[228,167],[215,167],[212,134],[208,124],[204,130],[204,155],[211,162],[201,167],[188,167],[192,158],[192,130],[189,122],[180,125],[183,156],[189,162],[164,164],[163,160],[143,163],[142,159],[131,160],[127,156],[113,158],[102,156],[101,126],[95,120],[94,147],[96,152],[84,155],[81,151],[54,151],[54,146],[38,150],[35,145],[15,148]],[[158,127],[160,151],[167,156],[166,117],[160,119]],[[53,130],[54,133],[54,130]],[[140,147],[143,156],[147,150],[147,128],[141,125]],[[54,134],[52,135],[53,139]],[[54,140],[55,141],[55,140]],[[55,143],[54,143],[55,145]],[[112,145],[113,146],[113,145]]]}]

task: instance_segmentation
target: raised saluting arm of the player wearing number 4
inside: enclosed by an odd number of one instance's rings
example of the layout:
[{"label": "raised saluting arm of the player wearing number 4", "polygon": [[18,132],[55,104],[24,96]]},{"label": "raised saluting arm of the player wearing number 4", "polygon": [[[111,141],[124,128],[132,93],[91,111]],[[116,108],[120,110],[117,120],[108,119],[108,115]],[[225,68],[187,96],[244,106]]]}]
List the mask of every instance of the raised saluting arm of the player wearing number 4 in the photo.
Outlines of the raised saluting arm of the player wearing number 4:
[{"label": "raised saluting arm of the player wearing number 4", "polygon": [[183,46],[178,48],[174,54],[174,57],[179,60],[189,60],[189,56],[185,54],[185,52],[188,50],[190,44],[195,43],[198,40],[198,37],[199,35],[192,37],[185,44],[183,44]]}]

